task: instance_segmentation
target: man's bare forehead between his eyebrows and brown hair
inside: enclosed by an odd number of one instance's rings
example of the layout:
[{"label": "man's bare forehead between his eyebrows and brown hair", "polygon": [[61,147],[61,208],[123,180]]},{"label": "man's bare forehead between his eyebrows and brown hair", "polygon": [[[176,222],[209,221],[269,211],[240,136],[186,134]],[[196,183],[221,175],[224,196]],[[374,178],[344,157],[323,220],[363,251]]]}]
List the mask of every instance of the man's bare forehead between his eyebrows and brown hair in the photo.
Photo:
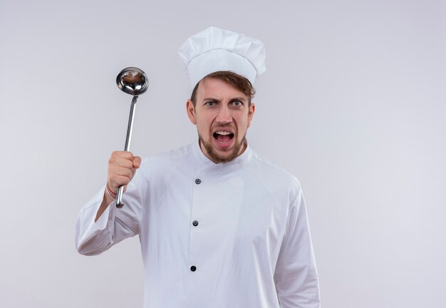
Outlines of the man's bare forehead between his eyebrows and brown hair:
[{"label": "man's bare forehead between his eyebrows and brown hair", "polygon": [[226,81],[222,81],[218,78],[204,78],[199,81],[197,88],[197,98],[246,98],[248,97],[239,89],[235,88]]}]

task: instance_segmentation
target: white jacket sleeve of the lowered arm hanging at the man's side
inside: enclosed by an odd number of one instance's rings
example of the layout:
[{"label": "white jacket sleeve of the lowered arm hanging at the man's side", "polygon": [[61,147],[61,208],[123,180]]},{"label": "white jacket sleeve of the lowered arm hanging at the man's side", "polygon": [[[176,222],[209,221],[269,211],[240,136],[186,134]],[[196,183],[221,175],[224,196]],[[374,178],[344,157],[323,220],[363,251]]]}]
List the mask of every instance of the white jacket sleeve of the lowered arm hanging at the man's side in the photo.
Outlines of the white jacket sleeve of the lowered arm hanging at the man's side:
[{"label": "white jacket sleeve of the lowered arm hanging at the man's side", "polygon": [[289,217],[274,272],[281,308],[320,308],[318,274],[304,196],[299,184],[289,193]]}]

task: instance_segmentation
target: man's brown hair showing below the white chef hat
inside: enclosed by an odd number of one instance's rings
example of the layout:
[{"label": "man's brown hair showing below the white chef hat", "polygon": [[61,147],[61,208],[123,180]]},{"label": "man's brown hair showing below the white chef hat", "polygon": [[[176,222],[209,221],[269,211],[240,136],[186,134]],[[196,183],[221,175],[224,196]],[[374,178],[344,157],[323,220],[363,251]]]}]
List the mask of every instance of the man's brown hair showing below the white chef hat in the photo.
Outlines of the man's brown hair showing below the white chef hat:
[{"label": "man's brown hair showing below the white chef hat", "polygon": [[[221,81],[224,81],[225,83],[228,83],[230,86],[233,86],[234,88],[237,88],[237,90],[241,91],[248,97],[248,106],[251,105],[251,99],[254,98],[254,95],[256,93],[256,90],[252,86],[251,81],[249,81],[244,76],[240,76],[237,73],[234,73],[232,71],[216,71],[214,73],[210,73],[209,75],[205,76],[202,80],[206,78],[215,78],[219,79]],[[192,95],[190,96],[190,100],[195,106],[195,99],[197,96],[197,89],[198,89],[199,82],[195,86],[194,90],[192,91]]]}]

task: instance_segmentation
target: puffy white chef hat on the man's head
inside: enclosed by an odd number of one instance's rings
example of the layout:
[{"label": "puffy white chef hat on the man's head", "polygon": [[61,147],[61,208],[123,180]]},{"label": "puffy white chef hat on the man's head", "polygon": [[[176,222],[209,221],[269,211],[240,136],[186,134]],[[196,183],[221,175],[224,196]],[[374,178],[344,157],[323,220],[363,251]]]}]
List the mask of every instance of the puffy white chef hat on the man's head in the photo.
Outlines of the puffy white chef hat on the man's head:
[{"label": "puffy white chef hat on the man's head", "polygon": [[252,84],[265,68],[265,48],[258,39],[209,27],[185,41],[178,51],[191,88],[216,71],[232,71]]}]

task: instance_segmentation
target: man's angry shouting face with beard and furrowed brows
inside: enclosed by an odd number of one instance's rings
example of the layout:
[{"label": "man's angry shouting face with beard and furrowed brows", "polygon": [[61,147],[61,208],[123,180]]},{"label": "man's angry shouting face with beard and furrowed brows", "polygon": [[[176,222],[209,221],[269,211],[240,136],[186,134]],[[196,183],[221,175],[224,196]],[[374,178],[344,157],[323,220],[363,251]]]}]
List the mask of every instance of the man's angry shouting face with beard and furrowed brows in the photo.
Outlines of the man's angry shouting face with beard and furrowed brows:
[{"label": "man's angry shouting face with beard and furrowed brows", "polygon": [[216,78],[199,82],[196,104],[187,101],[187,116],[197,125],[199,145],[214,163],[237,158],[245,148],[245,135],[255,106],[242,91]]}]

